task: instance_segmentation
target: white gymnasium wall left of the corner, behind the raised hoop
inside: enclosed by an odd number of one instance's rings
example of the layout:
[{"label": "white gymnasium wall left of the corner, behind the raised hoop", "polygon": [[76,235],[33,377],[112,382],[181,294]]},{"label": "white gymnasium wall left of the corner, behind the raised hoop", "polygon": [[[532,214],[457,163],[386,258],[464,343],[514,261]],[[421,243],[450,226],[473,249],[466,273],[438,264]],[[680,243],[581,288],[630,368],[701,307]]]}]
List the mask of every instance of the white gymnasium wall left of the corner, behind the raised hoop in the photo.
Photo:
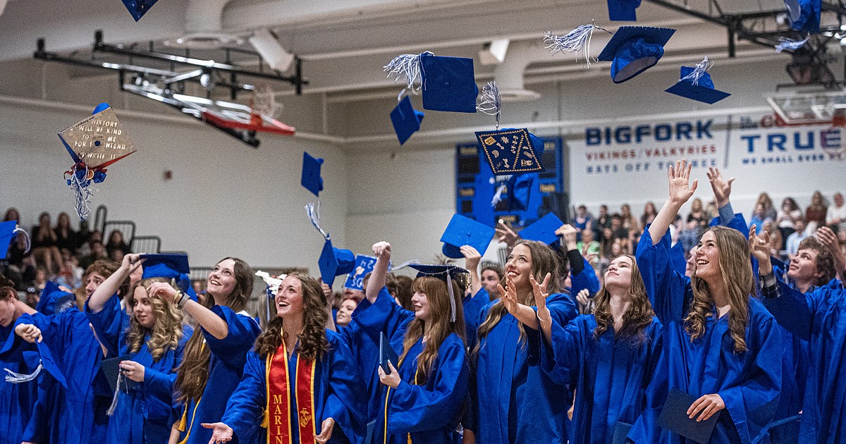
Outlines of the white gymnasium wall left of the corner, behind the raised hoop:
[{"label": "white gymnasium wall left of the corner, behind the raised hoop", "polygon": [[[344,244],[347,168],[337,146],[263,135],[255,150],[167,107],[152,118],[115,108],[138,151],[108,168],[92,211],[105,205],[109,219],[135,221],[137,234],[162,237],[162,249],[188,251],[194,266],[234,255],[254,268],[307,266],[316,274],[322,237],[304,210],[316,198],[299,184],[302,153],[309,151],[326,159],[323,226]],[[70,157],[56,133],[90,112],[0,101],[3,211],[17,207],[25,226],[45,210],[53,221],[58,211],[75,218],[62,178]],[[172,180],[164,179],[166,170]]]}]

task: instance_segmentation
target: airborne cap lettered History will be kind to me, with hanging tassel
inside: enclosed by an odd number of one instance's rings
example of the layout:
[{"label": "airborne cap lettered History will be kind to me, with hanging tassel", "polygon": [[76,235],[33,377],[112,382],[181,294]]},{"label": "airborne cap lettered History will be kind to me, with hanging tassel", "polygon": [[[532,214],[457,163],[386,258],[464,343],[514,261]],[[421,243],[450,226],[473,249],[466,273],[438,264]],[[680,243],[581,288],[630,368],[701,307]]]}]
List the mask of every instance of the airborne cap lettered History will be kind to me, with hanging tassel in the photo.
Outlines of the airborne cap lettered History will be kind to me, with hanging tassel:
[{"label": "airborne cap lettered History will be kind to me, with hanging tassel", "polygon": [[90,117],[63,130],[58,138],[74,161],[64,178],[74,189],[76,213],[85,221],[90,212],[91,182],[106,180],[106,167],[134,153],[135,145],[108,103],[97,105]]}]

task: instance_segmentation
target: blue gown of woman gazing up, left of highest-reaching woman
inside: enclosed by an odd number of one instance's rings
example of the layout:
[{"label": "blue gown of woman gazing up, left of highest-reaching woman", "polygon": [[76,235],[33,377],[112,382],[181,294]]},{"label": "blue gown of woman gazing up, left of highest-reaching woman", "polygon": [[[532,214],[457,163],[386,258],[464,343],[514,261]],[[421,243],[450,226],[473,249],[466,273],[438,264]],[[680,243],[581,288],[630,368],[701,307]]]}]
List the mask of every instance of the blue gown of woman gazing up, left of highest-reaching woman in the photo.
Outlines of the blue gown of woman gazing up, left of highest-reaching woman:
[{"label": "blue gown of woman gazing up, left of highest-reaching woman", "polygon": [[[575,389],[570,442],[612,444],[618,421],[633,424],[646,407],[645,391],[661,356],[661,322],[652,318],[642,342],[615,339],[613,326],[595,338],[596,318],[580,315],[566,326],[552,321],[541,367]],[[542,335],[541,335],[542,336]]]}]

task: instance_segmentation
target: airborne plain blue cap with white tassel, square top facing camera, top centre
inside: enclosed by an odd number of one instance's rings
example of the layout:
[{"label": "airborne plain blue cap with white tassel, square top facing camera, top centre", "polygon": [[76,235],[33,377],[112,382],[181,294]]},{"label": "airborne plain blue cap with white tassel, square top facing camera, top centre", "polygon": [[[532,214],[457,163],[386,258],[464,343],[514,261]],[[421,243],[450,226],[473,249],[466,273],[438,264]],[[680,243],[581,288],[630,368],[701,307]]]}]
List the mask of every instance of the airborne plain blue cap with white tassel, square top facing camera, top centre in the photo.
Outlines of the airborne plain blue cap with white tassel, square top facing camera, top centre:
[{"label": "airborne plain blue cap with white tassel, square top facing camera, top centre", "polygon": [[476,112],[472,58],[436,56],[431,52],[402,54],[385,65],[388,77],[404,77],[405,90],[421,90],[423,108],[430,111]]}]

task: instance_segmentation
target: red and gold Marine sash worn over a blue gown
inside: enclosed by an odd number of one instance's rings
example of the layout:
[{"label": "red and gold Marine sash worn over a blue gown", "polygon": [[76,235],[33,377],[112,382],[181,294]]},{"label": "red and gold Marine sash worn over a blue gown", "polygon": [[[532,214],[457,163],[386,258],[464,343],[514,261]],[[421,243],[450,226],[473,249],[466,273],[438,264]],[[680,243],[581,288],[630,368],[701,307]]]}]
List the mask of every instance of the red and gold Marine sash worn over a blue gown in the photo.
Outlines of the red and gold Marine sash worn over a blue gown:
[{"label": "red and gold Marine sash worn over a blue gown", "polygon": [[[285,341],[276,349],[276,353],[266,359],[267,410],[265,421],[267,444],[291,444],[291,391],[288,387],[288,351]],[[297,373],[294,375],[294,401],[297,403],[299,424],[299,442],[314,444],[316,432],[314,398],[314,361],[299,359],[297,355]]]}]

